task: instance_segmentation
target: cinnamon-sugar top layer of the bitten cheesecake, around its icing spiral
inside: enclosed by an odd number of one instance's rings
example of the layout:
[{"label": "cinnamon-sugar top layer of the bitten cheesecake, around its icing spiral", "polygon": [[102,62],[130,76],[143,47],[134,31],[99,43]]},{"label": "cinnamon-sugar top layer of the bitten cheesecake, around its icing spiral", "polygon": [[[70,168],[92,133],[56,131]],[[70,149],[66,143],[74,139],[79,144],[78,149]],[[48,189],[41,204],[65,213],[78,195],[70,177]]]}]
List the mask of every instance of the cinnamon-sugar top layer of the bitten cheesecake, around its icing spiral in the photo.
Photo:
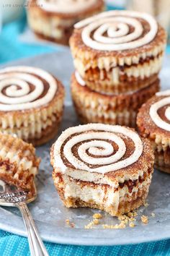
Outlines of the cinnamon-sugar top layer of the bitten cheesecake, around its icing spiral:
[{"label": "cinnamon-sugar top layer of the bitten cheesecake, around its icing spiral", "polygon": [[[102,124],[102,125],[104,125],[104,124]],[[112,127],[112,126],[110,126],[110,127]],[[130,129],[130,128],[127,128],[127,129]],[[130,129],[130,130],[132,131],[132,129]],[[66,132],[65,132],[65,134],[66,134]],[[120,135],[121,135],[121,132],[120,132]],[[118,136],[120,136],[120,135],[118,135]],[[81,134],[81,137],[82,136],[83,136],[83,134]],[[125,140],[125,138],[126,137],[122,135],[122,140]],[[71,140],[71,138],[69,140]],[[86,144],[86,142],[88,142],[88,140],[84,141],[85,144]],[[104,174],[98,173],[95,171],[94,172],[85,171],[84,169],[80,170],[80,167],[79,167],[79,169],[74,168],[73,166],[71,166],[71,163],[69,163],[66,160],[67,155],[66,155],[66,157],[64,157],[63,153],[61,152],[63,147],[60,150],[60,148],[56,148],[55,144],[51,148],[50,161],[55,170],[55,174],[64,173],[64,174],[67,174],[68,176],[72,177],[73,179],[79,179],[84,182],[94,182],[96,184],[109,184],[112,187],[116,188],[119,185],[119,183],[123,183],[128,179],[131,179],[134,181],[134,180],[138,179],[139,176],[143,176],[143,174],[146,171],[148,171],[148,167],[152,168],[153,160],[154,160],[152,147],[151,147],[150,143],[148,142],[148,140],[146,140],[146,139],[142,139],[142,143],[143,143],[143,151],[142,151],[140,157],[138,158],[138,161],[135,161],[135,163],[130,164],[128,166],[126,165],[126,168],[121,168],[121,169],[117,169],[115,171],[109,171],[109,172],[104,171]],[[55,147],[55,150],[54,150],[54,147]],[[114,146],[114,148],[115,148],[115,146]],[[56,150],[59,150],[57,153],[58,159],[59,159],[59,155],[60,155],[60,158],[62,158],[63,160],[60,160],[60,161],[55,160],[55,151]],[[115,150],[116,150],[116,148],[115,148]],[[128,136],[127,136],[126,154],[128,154],[128,155],[130,154],[130,156],[131,156],[133,154],[132,150],[134,150],[133,142],[132,141],[130,142],[130,140],[128,140]],[[73,151],[72,151],[72,153],[73,153]],[[126,155],[127,158],[128,158],[128,155]],[[77,157],[79,158],[79,156],[76,153],[75,153],[75,156],[76,156],[76,158]],[[122,159],[125,160],[126,159],[125,156]],[[78,159],[78,161],[79,161],[79,159]],[[98,163],[99,163],[99,161],[98,161]],[[64,164],[64,166],[66,166],[66,167],[64,167],[66,169],[66,171],[63,171],[63,164]],[[104,166],[102,168],[104,170]]]}]

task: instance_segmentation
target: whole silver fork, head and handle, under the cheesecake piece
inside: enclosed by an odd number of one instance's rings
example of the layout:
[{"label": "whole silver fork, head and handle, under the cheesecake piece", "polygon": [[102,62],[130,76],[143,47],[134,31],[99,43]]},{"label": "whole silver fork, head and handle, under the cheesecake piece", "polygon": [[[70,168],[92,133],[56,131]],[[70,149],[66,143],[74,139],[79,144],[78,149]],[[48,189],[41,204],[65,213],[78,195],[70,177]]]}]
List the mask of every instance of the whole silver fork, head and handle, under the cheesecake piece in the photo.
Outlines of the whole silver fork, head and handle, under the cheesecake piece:
[{"label": "whole silver fork, head and handle, under the cheesecake piece", "polygon": [[36,197],[36,187],[35,195],[30,197],[27,191],[21,191],[17,189],[17,187],[6,184],[6,182],[0,179],[0,205],[14,206],[19,208],[27,229],[30,254],[32,256],[48,256],[48,252],[45,249],[45,245],[43,244],[42,239],[40,238],[40,234],[38,234],[30,210],[27,208],[27,203],[34,201]]}]

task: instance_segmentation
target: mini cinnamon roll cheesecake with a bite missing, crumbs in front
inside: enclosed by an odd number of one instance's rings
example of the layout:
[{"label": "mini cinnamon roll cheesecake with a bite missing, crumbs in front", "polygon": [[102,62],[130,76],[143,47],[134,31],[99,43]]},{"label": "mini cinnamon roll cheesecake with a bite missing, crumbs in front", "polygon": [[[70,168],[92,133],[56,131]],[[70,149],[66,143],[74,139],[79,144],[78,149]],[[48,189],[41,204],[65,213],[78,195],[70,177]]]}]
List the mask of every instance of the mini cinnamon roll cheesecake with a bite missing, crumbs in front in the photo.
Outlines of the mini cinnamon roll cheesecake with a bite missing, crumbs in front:
[{"label": "mini cinnamon roll cheesecake with a bite missing, crumbs in front", "polygon": [[153,149],[133,129],[109,124],[68,128],[50,157],[53,181],[67,208],[97,208],[119,216],[146,200]]}]

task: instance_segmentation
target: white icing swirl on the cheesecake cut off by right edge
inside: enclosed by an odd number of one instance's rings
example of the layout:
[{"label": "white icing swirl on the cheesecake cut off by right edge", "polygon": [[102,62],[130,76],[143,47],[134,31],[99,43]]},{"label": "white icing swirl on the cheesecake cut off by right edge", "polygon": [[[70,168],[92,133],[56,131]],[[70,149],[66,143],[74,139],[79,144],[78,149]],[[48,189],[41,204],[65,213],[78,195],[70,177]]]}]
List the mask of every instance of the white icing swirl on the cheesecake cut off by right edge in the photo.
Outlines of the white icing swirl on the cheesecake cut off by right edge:
[{"label": "white icing swirl on the cheesecake cut off by right edge", "polygon": [[[162,98],[160,101],[153,103],[151,105],[149,114],[151,116],[152,121],[156,124],[157,127],[165,129],[166,131],[170,132],[170,124],[161,119],[161,116],[159,116],[158,114],[159,109],[164,108],[164,106],[166,105],[170,105],[170,90],[165,90],[164,92],[156,93],[156,96],[165,96],[165,98]],[[165,116],[166,119],[170,121],[170,106],[166,107]]]}]

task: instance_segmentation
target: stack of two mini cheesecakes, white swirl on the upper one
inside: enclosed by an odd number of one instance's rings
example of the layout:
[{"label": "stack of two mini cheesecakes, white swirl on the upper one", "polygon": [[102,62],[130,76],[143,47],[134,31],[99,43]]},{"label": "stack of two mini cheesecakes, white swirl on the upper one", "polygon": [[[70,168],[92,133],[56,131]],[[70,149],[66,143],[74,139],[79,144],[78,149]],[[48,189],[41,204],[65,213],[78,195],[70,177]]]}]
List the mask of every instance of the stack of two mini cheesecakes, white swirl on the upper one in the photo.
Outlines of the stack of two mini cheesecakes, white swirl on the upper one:
[{"label": "stack of two mini cheesecakes, white swirl on the upper one", "polygon": [[138,108],[159,90],[165,45],[149,14],[110,11],[77,23],[71,94],[81,121],[135,127]]}]

